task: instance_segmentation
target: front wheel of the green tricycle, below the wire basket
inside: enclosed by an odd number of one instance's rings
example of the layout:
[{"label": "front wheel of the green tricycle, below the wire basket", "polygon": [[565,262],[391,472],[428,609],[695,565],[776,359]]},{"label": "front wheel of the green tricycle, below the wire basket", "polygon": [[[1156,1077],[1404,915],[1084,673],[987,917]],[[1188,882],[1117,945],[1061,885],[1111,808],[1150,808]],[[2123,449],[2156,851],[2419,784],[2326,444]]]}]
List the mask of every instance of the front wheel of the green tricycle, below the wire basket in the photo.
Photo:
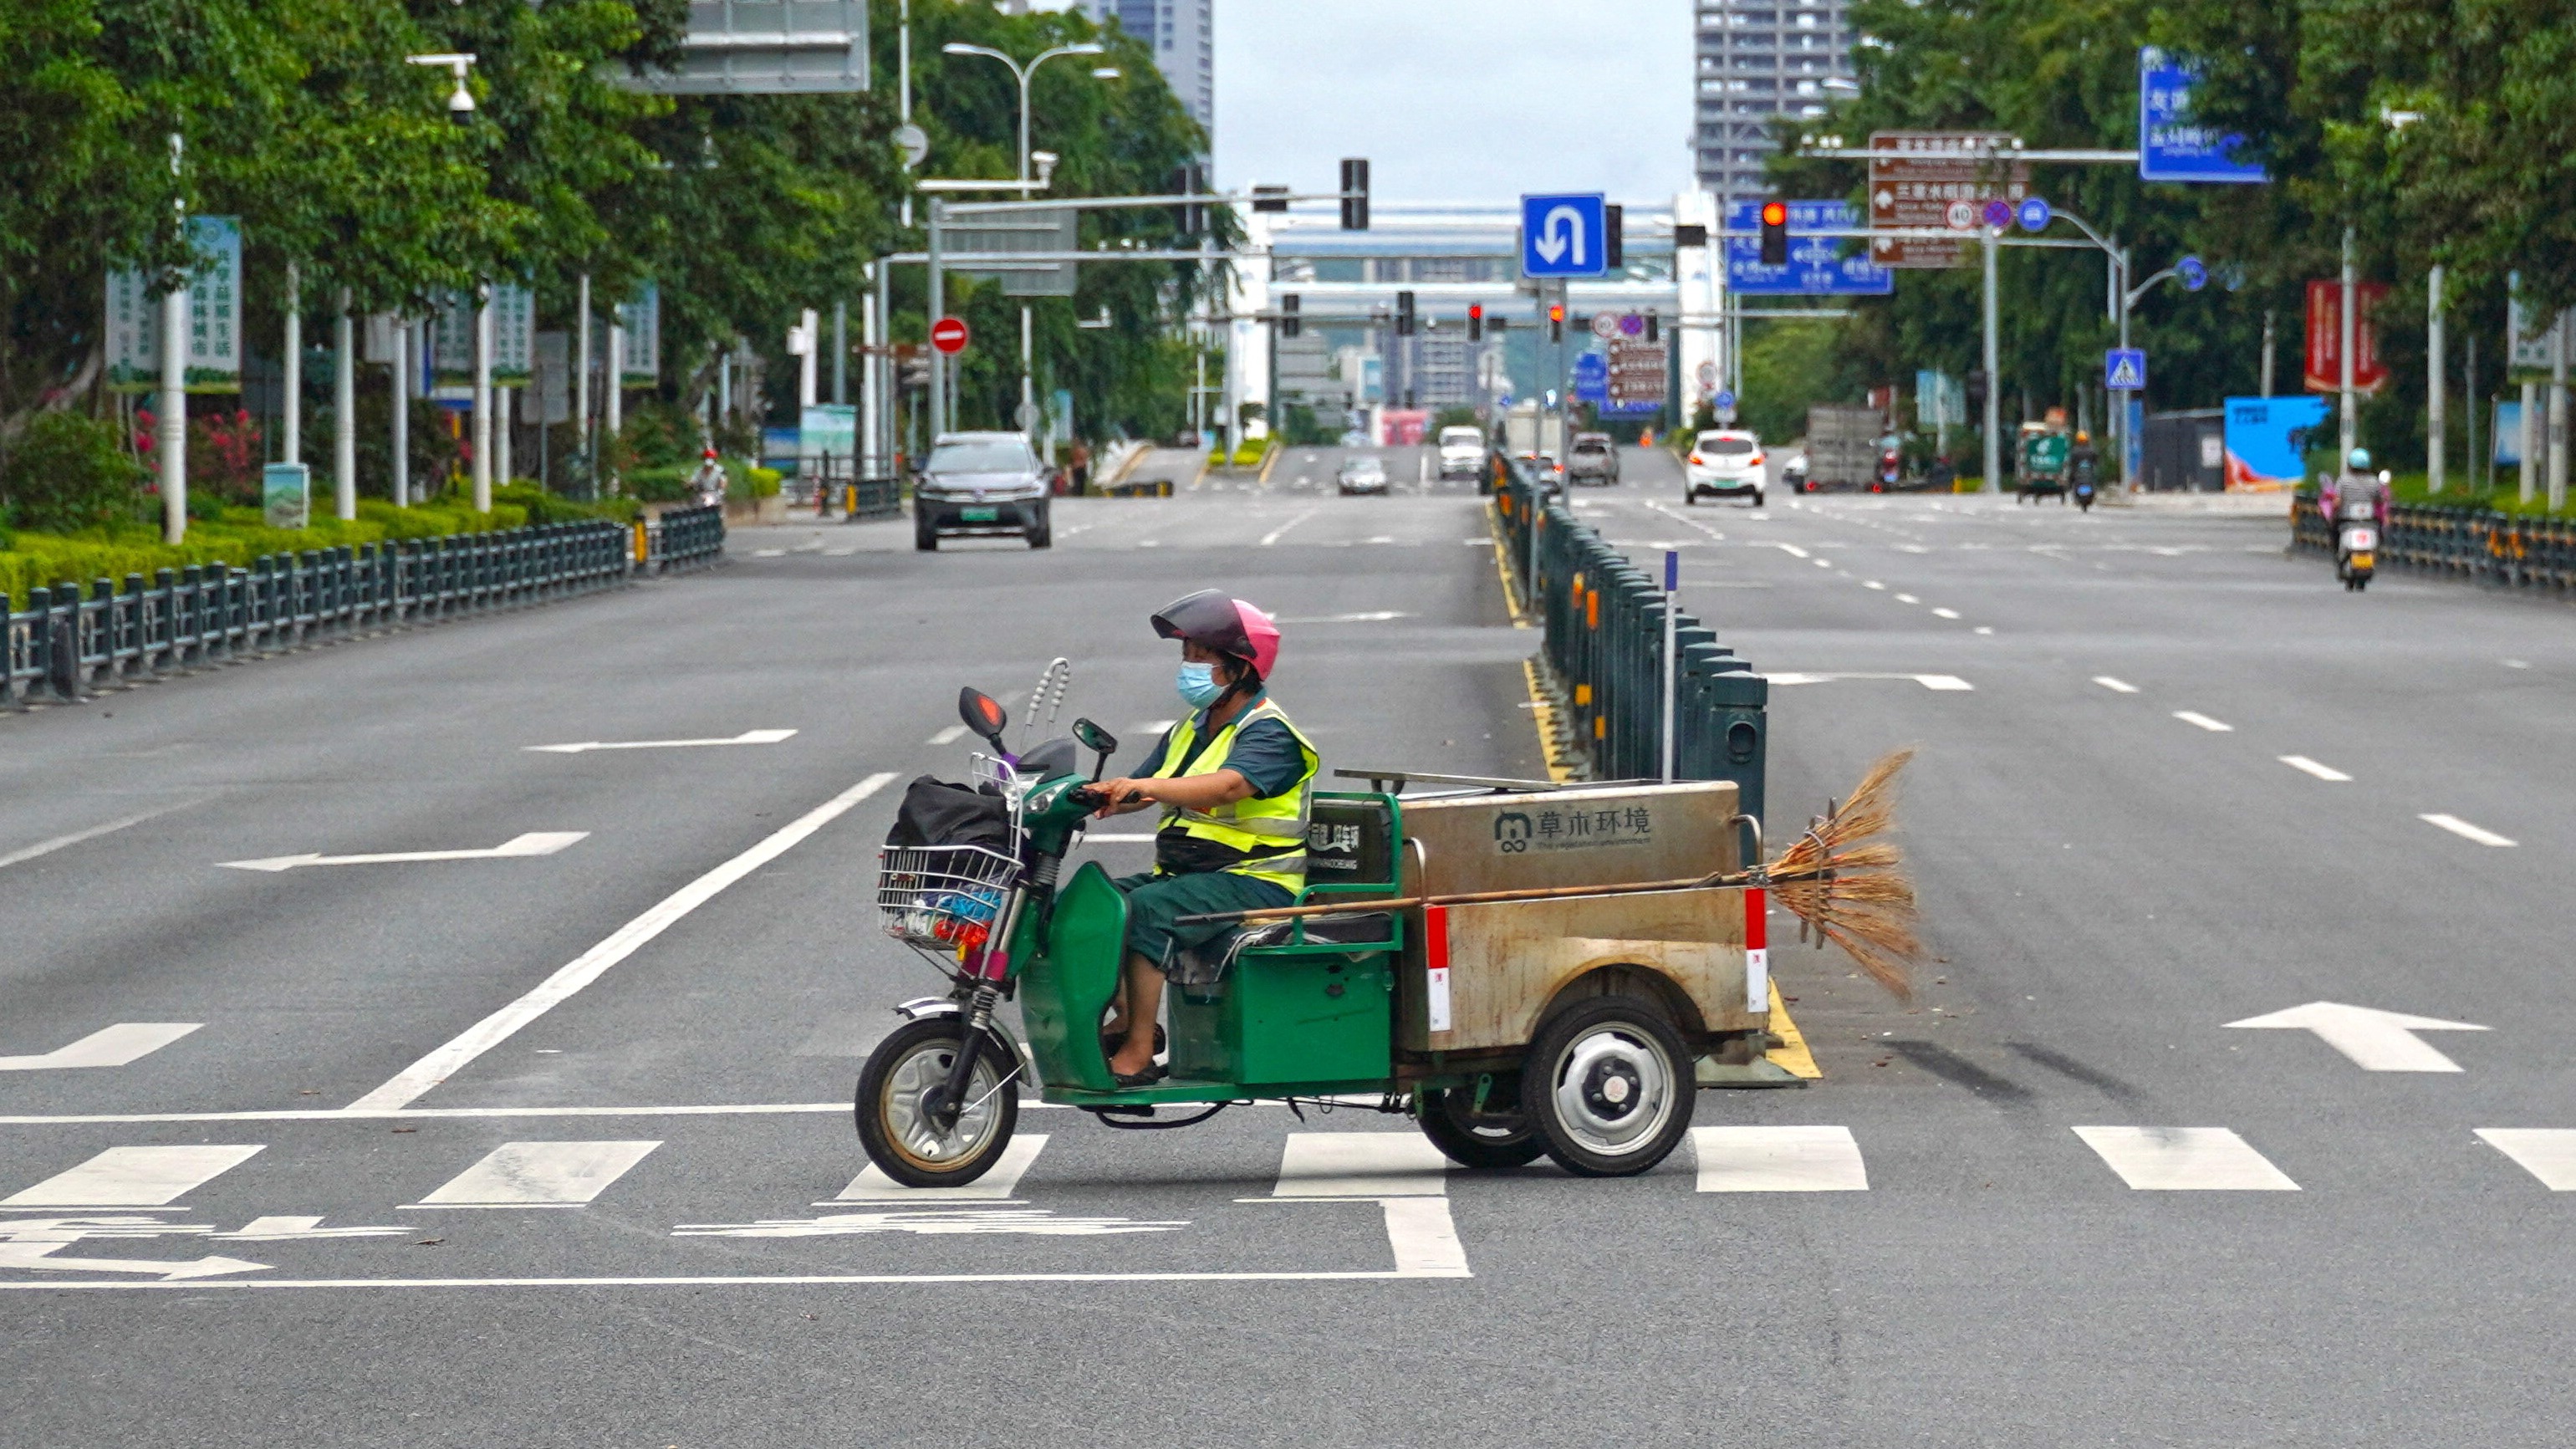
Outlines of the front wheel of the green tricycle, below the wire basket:
[{"label": "front wheel of the green tricycle, below the wire basket", "polygon": [[858,1142],[881,1173],[904,1186],[953,1189],[981,1178],[1020,1124],[1010,1044],[984,1034],[966,1078],[966,1106],[956,1127],[940,1132],[930,1106],[948,1088],[963,1031],[956,1016],[907,1021],[878,1042],[858,1073]]}]

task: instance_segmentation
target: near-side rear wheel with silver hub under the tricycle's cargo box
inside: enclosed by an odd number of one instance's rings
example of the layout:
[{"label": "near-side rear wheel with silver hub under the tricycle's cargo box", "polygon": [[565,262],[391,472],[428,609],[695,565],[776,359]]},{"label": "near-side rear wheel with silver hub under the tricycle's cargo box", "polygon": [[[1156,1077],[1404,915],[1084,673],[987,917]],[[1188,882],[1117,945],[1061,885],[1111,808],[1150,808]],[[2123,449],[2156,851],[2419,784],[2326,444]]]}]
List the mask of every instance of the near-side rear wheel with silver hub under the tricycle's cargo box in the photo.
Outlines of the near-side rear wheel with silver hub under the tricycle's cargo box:
[{"label": "near-side rear wheel with silver hub under the tricycle's cargo box", "polygon": [[1595,995],[1551,1016],[1520,1070],[1520,1111],[1548,1158],[1582,1178],[1662,1163],[1690,1132],[1690,1047],[1654,1003]]}]

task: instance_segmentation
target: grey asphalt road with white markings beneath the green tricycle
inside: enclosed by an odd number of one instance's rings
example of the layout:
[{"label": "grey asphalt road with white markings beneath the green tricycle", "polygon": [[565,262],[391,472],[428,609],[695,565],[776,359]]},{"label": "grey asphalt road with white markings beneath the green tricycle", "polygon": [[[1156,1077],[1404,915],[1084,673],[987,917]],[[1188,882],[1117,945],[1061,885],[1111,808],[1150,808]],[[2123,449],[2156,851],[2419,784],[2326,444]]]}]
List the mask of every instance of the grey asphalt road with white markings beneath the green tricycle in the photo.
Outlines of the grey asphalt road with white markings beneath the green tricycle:
[{"label": "grey asphalt road with white markings beneath the green tricycle", "polygon": [[[1579,495],[1775,678],[1775,835],[1919,748],[1919,1000],[1780,946],[1824,1080],[1698,1098],[1862,1191],[1430,1173],[1471,1276],[1404,1274],[1419,1212],[1283,1163],[1414,1134],[1244,1109],[881,1201],[850,1078],[938,982],[871,861],[956,686],[1066,655],[1131,761],[1221,583],[1327,768],[1540,768],[1471,485],[1332,459],[0,719],[0,1444],[2563,1441],[2566,1140],[2478,1129],[2576,1129],[2571,614],[2277,521]],[[2228,1029],[2318,1000],[2488,1031]]]}]

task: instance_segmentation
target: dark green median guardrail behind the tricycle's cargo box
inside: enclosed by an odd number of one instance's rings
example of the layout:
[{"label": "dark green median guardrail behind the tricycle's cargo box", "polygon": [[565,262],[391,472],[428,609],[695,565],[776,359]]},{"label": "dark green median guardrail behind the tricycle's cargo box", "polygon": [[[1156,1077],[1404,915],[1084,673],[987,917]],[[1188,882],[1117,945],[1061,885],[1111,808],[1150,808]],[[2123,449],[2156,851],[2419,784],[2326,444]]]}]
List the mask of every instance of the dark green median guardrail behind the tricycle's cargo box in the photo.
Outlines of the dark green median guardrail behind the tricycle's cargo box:
[{"label": "dark green median guardrail behind the tricycle's cargo box", "polygon": [[[1497,454],[1492,469],[1512,578],[1546,627],[1592,779],[1662,779],[1664,590],[1564,498],[1535,487],[1525,464]],[[1674,621],[1674,779],[1731,779],[1744,810],[1762,815],[1770,681],[1690,614]]]}]

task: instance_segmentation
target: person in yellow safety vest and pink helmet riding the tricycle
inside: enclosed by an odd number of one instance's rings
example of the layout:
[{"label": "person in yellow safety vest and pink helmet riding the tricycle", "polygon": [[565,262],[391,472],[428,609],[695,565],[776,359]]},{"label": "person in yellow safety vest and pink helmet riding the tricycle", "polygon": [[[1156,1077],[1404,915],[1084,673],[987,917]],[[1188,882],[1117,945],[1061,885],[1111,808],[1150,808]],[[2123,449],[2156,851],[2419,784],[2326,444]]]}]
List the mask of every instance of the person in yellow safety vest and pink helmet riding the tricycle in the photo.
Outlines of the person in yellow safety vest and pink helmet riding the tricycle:
[{"label": "person in yellow safety vest and pink helmet riding the tricycle", "polygon": [[1154,1016],[1172,972],[1203,969],[1200,949],[1231,926],[1175,926],[1182,915],[1288,905],[1306,884],[1306,792],[1321,755],[1267,694],[1280,632],[1267,614],[1200,590],[1154,614],[1180,639],[1180,699],[1193,709],[1164,730],[1136,771],[1103,781],[1100,815],[1162,807],[1154,869],[1126,877],[1126,969],[1103,1047],[1118,1085],[1154,1080]]}]

